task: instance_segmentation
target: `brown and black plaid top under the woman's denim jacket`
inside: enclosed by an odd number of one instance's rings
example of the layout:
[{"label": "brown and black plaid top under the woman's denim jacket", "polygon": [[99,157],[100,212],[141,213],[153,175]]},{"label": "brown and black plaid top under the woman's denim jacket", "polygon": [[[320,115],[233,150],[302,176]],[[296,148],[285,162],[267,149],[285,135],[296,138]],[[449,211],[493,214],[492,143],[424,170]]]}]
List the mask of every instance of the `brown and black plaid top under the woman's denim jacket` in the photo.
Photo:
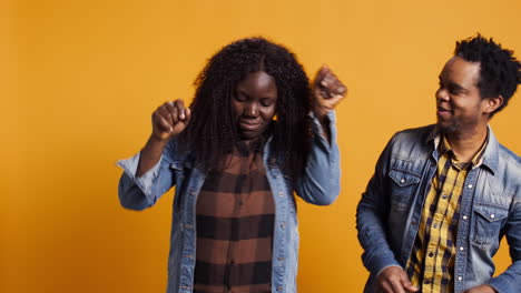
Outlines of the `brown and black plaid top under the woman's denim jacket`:
[{"label": "brown and black plaid top under the woman's denim jacket", "polygon": [[272,292],[275,202],[262,148],[237,143],[197,199],[196,293]]}]

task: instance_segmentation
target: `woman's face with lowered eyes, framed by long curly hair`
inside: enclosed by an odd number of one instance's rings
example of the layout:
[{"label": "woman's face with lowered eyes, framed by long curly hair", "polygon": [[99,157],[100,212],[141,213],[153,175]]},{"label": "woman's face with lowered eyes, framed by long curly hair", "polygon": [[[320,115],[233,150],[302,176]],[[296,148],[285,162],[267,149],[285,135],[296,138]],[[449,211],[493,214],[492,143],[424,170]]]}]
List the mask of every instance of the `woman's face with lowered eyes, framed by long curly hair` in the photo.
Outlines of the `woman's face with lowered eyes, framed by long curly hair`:
[{"label": "woman's face with lowered eyes, framed by long curly hair", "polygon": [[264,71],[247,74],[235,89],[232,113],[243,140],[263,134],[275,115],[277,85]]}]

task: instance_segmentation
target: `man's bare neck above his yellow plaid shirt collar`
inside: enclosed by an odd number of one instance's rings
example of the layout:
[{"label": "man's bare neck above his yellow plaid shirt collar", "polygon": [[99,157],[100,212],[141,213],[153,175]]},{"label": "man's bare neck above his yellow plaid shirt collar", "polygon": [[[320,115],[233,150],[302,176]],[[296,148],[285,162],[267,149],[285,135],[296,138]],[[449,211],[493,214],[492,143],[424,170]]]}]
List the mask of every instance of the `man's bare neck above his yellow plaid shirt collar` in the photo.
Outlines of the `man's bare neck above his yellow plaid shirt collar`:
[{"label": "man's bare neck above his yellow plaid shirt collar", "polygon": [[486,140],[488,128],[484,125],[464,133],[445,133],[446,141],[460,162],[470,162]]}]

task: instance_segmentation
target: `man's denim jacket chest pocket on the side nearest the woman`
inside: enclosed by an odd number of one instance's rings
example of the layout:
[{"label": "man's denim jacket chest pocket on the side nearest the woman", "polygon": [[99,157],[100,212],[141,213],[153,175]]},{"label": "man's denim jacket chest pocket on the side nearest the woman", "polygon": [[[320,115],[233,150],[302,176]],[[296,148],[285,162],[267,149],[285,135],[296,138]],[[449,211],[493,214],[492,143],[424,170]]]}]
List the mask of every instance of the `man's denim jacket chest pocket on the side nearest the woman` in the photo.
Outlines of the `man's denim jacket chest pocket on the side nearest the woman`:
[{"label": "man's denim jacket chest pocket on the side nearest the woman", "polygon": [[391,169],[391,206],[397,211],[409,210],[413,193],[420,183],[420,176],[407,171]]}]

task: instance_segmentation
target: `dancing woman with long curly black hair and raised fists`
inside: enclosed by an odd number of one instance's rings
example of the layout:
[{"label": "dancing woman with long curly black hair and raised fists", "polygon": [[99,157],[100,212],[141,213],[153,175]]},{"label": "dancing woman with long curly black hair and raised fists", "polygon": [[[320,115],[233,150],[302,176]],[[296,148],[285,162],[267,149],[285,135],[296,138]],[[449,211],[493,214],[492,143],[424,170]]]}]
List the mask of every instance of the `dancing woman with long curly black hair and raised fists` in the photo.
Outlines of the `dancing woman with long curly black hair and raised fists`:
[{"label": "dancing woman with long curly black hair and raised fists", "polygon": [[286,48],[233,42],[181,100],[153,114],[125,170],[125,208],[151,206],[176,185],[167,292],[296,292],[294,191],[332,203],[340,189],[333,109],[345,87],[323,67],[308,79]]}]

